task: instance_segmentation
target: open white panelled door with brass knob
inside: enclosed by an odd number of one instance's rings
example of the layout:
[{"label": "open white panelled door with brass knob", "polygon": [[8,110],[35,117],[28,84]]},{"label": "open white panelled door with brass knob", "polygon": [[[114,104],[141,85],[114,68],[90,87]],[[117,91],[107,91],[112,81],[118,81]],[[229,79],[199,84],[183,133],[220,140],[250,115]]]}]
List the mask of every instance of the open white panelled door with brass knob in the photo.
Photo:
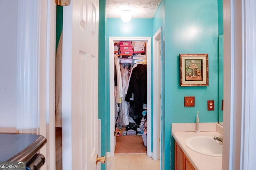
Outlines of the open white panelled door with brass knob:
[{"label": "open white panelled door with brass knob", "polygon": [[63,8],[63,170],[96,170],[98,10],[98,0],[75,0]]}]

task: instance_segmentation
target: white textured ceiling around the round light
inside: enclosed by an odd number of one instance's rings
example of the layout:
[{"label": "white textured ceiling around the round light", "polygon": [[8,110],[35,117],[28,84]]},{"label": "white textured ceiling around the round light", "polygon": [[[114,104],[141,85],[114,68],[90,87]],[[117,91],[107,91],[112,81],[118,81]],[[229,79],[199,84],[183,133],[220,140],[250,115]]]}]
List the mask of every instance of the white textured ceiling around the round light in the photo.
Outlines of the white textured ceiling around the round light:
[{"label": "white textured ceiling around the round light", "polygon": [[106,0],[107,18],[120,18],[130,10],[132,18],[153,18],[162,0]]}]

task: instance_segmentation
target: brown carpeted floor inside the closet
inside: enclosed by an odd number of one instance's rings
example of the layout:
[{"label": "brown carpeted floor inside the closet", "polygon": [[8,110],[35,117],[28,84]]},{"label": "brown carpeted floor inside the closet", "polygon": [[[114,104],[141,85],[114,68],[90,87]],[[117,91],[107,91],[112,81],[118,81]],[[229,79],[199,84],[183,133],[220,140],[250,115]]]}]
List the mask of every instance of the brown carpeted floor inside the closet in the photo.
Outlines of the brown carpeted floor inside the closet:
[{"label": "brown carpeted floor inside the closet", "polygon": [[115,154],[146,154],[147,147],[144,146],[141,135],[124,135],[116,137]]}]

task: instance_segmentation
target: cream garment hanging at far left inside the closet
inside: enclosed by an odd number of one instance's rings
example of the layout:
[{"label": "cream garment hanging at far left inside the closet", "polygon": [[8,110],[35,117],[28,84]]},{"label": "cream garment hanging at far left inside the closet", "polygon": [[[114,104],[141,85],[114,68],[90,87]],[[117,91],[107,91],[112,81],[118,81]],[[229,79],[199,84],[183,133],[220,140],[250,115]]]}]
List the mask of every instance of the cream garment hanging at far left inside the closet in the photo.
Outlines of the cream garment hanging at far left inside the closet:
[{"label": "cream garment hanging at far left inside the closet", "polygon": [[115,86],[116,103],[121,103],[122,97],[123,97],[122,76],[121,76],[119,58],[116,55],[114,55],[114,58],[115,58],[116,79],[117,79],[117,86]]}]

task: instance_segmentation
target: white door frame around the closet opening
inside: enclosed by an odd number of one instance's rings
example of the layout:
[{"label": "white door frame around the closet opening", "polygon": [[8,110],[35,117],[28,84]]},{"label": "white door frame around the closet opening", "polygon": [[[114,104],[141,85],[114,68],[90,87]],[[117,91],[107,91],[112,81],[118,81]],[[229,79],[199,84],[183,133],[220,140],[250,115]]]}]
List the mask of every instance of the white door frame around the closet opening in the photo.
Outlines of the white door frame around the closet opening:
[{"label": "white door frame around the closet opening", "polygon": [[110,155],[115,153],[114,41],[147,41],[147,155],[151,156],[151,37],[109,37]]}]

